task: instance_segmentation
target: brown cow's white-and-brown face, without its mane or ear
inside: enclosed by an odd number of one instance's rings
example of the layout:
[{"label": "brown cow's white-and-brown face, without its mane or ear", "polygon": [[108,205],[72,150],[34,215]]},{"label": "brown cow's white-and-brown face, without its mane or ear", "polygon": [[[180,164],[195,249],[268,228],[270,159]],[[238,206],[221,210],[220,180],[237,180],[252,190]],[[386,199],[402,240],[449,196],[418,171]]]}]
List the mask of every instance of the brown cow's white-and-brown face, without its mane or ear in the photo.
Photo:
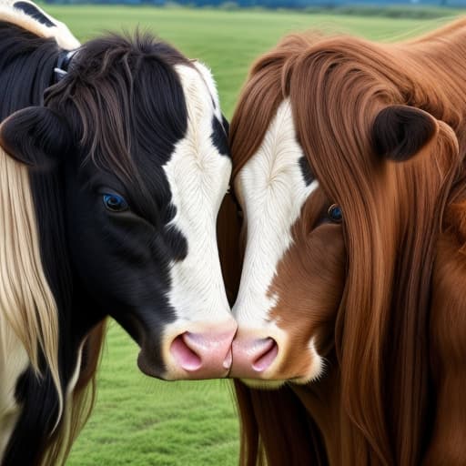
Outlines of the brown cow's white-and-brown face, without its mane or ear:
[{"label": "brown cow's white-and-brown face, without its mane or ear", "polygon": [[316,379],[345,283],[342,212],[310,170],[289,100],[241,163],[234,187],[245,250],[231,375],[258,387]]}]

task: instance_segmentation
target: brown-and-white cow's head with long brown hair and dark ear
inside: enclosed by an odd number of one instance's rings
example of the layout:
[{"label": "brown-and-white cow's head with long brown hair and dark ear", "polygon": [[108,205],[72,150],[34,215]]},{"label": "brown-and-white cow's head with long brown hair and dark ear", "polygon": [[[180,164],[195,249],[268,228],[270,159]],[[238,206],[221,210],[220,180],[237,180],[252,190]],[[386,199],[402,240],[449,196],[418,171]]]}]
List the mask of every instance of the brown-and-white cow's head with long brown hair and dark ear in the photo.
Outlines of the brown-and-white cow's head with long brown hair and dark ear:
[{"label": "brown-and-white cow's head with long brown hair and dark ear", "polygon": [[405,105],[412,81],[397,81],[398,63],[380,76],[380,50],[290,35],[253,66],[231,126],[246,241],[234,377],[305,383],[330,357],[355,404],[362,372],[365,393],[380,400],[380,367],[406,348],[390,347],[394,329],[417,344],[412,309],[420,319],[428,309],[424,261],[433,260],[458,141]]}]

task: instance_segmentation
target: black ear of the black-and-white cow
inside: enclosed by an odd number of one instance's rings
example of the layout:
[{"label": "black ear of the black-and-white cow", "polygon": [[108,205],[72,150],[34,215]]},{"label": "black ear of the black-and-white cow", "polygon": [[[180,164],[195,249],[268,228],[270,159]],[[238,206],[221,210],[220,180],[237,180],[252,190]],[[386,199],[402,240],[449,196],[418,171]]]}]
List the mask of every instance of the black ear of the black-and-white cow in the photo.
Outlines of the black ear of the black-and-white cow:
[{"label": "black ear of the black-and-white cow", "polygon": [[49,169],[65,156],[71,133],[63,118],[45,106],[28,106],[0,125],[0,146],[19,162]]}]

